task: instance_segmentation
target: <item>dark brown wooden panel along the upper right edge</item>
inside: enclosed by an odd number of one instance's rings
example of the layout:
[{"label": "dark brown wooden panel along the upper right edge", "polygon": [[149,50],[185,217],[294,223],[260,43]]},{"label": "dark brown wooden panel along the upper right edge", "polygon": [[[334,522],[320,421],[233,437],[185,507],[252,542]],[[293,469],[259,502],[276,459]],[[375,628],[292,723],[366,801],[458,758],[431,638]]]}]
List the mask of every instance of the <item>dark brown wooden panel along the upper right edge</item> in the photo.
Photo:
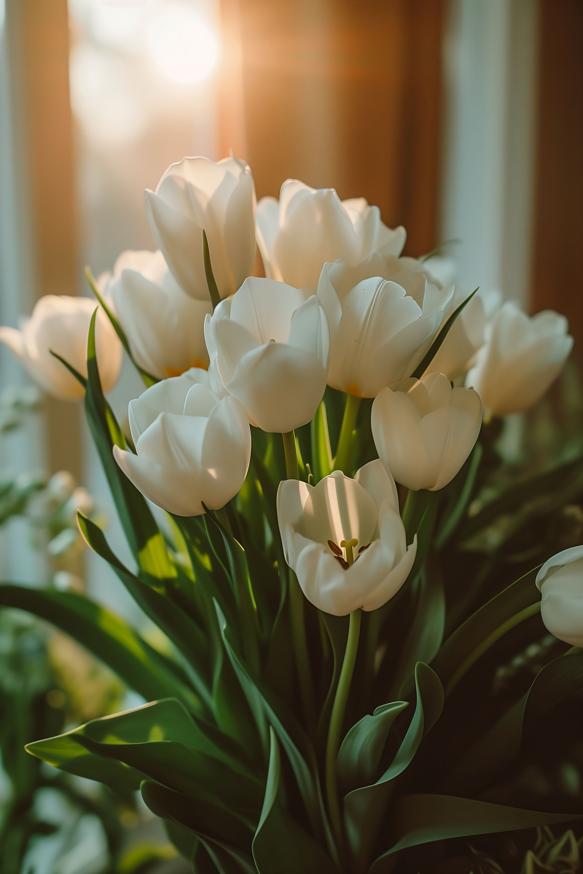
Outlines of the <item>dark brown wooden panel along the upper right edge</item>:
[{"label": "dark brown wooden panel along the upper right edge", "polygon": [[533,309],[569,319],[583,365],[583,3],[540,4]]}]

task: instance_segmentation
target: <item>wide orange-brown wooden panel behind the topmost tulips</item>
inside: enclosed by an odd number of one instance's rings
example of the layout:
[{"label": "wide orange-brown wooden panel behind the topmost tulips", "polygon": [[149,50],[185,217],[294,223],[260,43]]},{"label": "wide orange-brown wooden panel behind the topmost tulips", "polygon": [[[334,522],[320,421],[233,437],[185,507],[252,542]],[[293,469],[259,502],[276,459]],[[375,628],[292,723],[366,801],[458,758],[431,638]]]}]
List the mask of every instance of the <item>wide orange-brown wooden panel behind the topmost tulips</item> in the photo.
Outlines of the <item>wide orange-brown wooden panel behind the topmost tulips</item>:
[{"label": "wide orange-brown wooden panel behind the topmost tulips", "polygon": [[[223,0],[226,26],[233,2]],[[238,6],[246,159],[258,197],[277,195],[287,177],[333,186],[377,204],[388,225],[406,225],[407,251],[433,248],[441,0]],[[226,152],[230,142],[222,145]]]}]

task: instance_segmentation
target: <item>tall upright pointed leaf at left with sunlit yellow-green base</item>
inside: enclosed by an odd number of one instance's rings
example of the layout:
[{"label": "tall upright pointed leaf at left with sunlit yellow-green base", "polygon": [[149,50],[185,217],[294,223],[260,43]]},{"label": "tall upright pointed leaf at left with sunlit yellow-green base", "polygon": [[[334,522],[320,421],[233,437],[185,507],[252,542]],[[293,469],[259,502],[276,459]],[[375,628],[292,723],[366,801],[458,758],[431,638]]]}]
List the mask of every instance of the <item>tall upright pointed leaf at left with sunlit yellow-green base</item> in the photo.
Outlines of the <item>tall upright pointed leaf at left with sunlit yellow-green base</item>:
[{"label": "tall upright pointed leaf at left with sunlit yellow-green base", "polygon": [[170,561],[163,536],[145,498],[129,482],[128,477],[122,473],[114,458],[114,446],[119,446],[121,449],[127,447],[121,428],[101,390],[101,380],[95,357],[96,313],[97,309],[91,318],[87,338],[87,387],[85,392],[87,420],[108,479],[109,488],[114,497],[121,525],[135,560],[150,576],[157,579],[170,579],[175,577],[177,572]]}]

